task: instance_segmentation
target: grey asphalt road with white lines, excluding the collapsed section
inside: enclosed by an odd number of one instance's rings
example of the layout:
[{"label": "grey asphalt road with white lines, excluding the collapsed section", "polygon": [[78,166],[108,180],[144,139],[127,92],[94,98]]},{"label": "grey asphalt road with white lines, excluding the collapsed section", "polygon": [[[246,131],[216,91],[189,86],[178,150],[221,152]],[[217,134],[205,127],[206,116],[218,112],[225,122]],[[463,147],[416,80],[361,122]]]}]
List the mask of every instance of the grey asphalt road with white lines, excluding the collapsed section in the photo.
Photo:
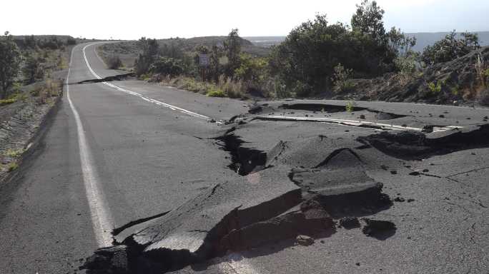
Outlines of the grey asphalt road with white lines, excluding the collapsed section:
[{"label": "grey asphalt road with white lines, excluding the collapsed section", "polygon": [[[323,135],[336,140],[332,147],[353,146],[350,140],[378,133],[378,125],[443,132],[485,123],[489,115],[483,108],[384,102],[328,112],[345,108],[342,101],[264,101],[250,115],[247,102],[143,81],[79,84],[124,73],[106,69],[95,46],[74,48],[69,92],[40,146],[0,188],[0,273],[81,272],[84,258],[109,244],[110,229],[177,208],[216,183],[240,180],[227,168],[232,157],[210,139],[232,125],[211,119],[245,114],[245,124],[234,129],[246,142],[242,147],[270,151],[280,141],[307,147],[300,142]],[[311,108],[318,103],[323,106]],[[489,148],[426,161],[387,159],[398,175],[370,169],[369,176],[390,198],[415,199],[369,216],[395,223],[392,237],[340,228],[308,247],[279,242],[179,273],[487,273]],[[427,168],[434,176],[409,175]]]}]

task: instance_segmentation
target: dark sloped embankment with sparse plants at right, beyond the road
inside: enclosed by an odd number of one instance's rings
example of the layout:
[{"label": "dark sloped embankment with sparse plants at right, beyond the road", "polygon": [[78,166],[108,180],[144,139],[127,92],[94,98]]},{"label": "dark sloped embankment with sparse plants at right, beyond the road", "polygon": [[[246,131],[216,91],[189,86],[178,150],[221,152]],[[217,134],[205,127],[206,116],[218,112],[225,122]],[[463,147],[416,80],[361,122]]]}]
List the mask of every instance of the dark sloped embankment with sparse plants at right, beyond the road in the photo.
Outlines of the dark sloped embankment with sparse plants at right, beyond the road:
[{"label": "dark sloped embankment with sparse plants at right, beyond the road", "polygon": [[453,61],[429,66],[423,73],[387,73],[378,78],[354,79],[352,91],[334,98],[442,104],[480,101],[480,96],[488,91],[476,68],[479,57],[488,69],[489,47],[483,47]]}]

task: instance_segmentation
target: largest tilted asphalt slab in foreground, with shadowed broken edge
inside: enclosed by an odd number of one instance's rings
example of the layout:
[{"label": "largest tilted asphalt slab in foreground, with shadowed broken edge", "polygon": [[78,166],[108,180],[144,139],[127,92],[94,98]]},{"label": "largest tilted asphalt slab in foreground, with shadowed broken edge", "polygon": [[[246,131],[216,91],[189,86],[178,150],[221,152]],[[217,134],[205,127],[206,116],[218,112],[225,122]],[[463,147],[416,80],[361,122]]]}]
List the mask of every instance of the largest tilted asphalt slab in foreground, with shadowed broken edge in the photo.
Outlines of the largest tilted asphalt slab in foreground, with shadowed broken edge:
[{"label": "largest tilted asphalt slab in foreground, with shadowed broken edge", "polygon": [[[276,167],[217,184],[170,213],[149,220],[149,225],[122,241],[130,254],[129,268],[139,273],[182,268],[234,248],[222,243],[229,233],[239,236],[251,231],[241,229],[249,225],[260,227],[260,222],[277,216],[278,223],[289,221],[280,215],[299,204],[302,196],[287,171],[288,168]],[[257,241],[267,240],[268,236],[262,234]]]}]

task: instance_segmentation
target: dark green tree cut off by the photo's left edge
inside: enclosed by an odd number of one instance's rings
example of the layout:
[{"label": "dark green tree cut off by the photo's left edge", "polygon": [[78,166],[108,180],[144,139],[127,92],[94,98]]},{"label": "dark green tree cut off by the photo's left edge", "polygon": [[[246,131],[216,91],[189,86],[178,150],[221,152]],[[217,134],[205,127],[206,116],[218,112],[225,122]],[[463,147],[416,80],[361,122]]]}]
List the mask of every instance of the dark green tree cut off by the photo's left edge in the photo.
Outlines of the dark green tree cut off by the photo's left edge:
[{"label": "dark green tree cut off by the photo's left edge", "polygon": [[5,32],[5,36],[0,38],[0,87],[1,98],[6,98],[7,91],[14,83],[14,78],[19,73],[21,54],[19,48],[9,35]]}]

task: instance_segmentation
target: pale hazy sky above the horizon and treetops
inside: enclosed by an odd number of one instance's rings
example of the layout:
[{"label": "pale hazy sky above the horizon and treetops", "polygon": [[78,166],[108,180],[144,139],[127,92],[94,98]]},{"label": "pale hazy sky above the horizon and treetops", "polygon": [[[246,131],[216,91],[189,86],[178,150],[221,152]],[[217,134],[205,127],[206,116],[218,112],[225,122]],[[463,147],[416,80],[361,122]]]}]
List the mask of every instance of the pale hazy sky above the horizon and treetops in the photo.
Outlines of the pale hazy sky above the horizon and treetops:
[{"label": "pale hazy sky above the horizon and treetops", "polygon": [[[350,23],[361,0],[2,0],[0,31],[87,39],[282,36],[315,14]],[[378,0],[385,25],[406,32],[489,31],[488,0]]]}]

